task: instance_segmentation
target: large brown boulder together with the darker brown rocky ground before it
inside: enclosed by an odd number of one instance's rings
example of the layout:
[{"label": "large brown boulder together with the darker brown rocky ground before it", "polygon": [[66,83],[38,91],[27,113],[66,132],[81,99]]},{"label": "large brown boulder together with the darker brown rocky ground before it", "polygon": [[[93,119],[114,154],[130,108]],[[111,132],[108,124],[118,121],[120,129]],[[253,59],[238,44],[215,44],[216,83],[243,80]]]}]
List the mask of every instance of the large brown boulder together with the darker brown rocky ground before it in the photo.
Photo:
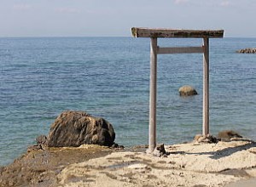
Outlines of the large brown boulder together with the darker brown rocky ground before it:
[{"label": "large brown boulder together with the darker brown rocky ground before it", "polygon": [[[113,126],[84,111],[64,111],[24,156],[0,167],[0,186],[56,186],[56,175],[69,164],[106,156],[114,143]],[[99,146],[102,145],[102,146]]]}]

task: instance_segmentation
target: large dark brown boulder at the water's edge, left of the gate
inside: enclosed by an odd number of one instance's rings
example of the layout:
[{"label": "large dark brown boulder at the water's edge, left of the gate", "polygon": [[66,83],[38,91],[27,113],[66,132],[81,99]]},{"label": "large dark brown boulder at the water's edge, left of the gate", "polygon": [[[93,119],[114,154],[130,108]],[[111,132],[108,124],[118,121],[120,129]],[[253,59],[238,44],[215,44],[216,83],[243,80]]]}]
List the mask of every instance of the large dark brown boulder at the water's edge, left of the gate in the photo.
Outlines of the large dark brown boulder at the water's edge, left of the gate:
[{"label": "large dark brown boulder at the water's edge, left of the gate", "polygon": [[48,136],[49,147],[78,147],[81,144],[111,146],[115,138],[112,125],[103,118],[83,111],[65,111],[55,119]]}]

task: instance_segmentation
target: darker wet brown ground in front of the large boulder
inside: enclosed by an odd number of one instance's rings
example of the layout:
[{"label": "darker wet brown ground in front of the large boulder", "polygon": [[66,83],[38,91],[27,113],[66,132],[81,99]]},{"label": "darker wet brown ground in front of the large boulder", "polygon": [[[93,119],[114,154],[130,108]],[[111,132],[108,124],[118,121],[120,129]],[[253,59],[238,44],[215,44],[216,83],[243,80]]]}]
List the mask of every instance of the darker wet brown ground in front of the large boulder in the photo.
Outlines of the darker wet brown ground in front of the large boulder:
[{"label": "darker wet brown ground in front of the large boulder", "polygon": [[0,186],[58,186],[56,176],[68,165],[107,156],[113,150],[98,145],[32,150],[0,167]]}]

